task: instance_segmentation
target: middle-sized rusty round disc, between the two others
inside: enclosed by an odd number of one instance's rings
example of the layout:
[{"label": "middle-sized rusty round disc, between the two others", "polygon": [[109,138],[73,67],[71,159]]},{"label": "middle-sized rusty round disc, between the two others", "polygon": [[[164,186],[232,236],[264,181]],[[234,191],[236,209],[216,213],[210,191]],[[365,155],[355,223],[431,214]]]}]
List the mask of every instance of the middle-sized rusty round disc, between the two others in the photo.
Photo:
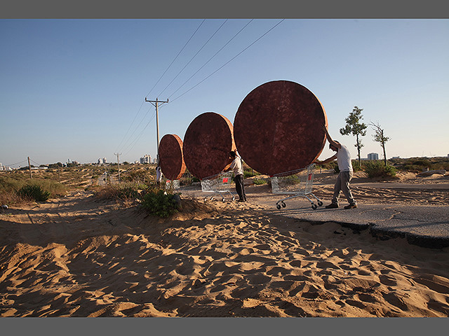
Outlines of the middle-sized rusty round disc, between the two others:
[{"label": "middle-sized rusty round disc, between the two others", "polygon": [[232,123],[215,112],[202,113],[190,123],[182,146],[187,169],[198,179],[222,172],[235,149]]}]

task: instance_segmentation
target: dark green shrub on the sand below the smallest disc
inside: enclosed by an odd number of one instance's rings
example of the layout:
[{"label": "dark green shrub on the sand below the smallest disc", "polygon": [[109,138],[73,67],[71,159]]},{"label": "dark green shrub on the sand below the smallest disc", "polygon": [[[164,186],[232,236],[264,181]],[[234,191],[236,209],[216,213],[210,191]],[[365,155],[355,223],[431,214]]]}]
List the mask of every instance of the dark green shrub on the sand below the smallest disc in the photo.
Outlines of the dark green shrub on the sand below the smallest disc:
[{"label": "dark green shrub on the sand below the smallest disc", "polygon": [[159,217],[168,217],[177,212],[179,194],[173,194],[163,189],[152,188],[142,198],[142,207]]}]

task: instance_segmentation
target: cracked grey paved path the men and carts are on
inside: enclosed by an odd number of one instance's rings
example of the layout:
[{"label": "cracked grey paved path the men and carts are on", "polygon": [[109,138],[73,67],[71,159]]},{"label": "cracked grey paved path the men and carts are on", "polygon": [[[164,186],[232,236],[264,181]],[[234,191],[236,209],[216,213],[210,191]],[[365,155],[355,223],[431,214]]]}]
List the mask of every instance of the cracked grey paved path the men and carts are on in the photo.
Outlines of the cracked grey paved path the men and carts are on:
[{"label": "cracked grey paved path the men and carts are on", "polygon": [[[416,185],[403,183],[359,183],[371,188],[402,188],[408,190],[449,190],[449,184]],[[394,184],[395,186],[391,186]],[[380,186],[378,186],[380,185]],[[318,207],[311,209],[310,202],[305,197],[295,197],[286,200],[286,207],[276,209],[276,202],[286,195],[257,192],[259,187],[246,188],[249,202],[255,202],[264,209],[272,209],[274,214],[298,218],[302,221],[321,224],[326,222],[339,223],[353,230],[370,230],[371,234],[380,239],[404,237],[410,244],[429,248],[444,248],[449,246],[449,207],[448,206],[407,206],[400,204],[358,204],[356,209],[326,209]],[[182,189],[180,190],[182,192]],[[201,187],[187,191],[188,195],[205,197]],[[232,192],[235,194],[234,190]],[[448,193],[449,197],[449,193]],[[315,202],[316,203],[316,202]],[[344,205],[344,204],[343,204]]]}]

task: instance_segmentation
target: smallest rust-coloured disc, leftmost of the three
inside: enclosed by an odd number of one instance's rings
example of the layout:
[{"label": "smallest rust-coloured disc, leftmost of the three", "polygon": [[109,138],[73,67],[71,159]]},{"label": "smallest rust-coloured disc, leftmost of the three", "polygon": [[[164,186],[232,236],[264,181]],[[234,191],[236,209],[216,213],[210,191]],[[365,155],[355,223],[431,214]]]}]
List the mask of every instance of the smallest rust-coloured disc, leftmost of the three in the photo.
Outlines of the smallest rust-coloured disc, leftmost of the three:
[{"label": "smallest rust-coloured disc, leftmost of the three", "polygon": [[159,165],[169,180],[180,179],[185,172],[182,156],[182,140],[176,134],[166,134],[159,143]]}]

